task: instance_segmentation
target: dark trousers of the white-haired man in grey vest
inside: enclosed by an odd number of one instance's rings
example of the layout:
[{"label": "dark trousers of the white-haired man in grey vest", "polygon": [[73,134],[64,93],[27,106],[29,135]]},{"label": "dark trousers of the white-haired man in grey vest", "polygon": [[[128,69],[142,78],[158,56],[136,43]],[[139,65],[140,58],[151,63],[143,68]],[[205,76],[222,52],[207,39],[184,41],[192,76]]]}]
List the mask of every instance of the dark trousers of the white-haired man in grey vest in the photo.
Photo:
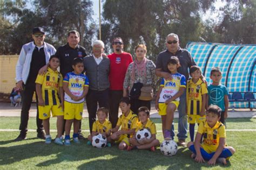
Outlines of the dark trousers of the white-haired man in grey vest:
[{"label": "dark trousers of the white-haired man in grey vest", "polygon": [[90,133],[92,132],[92,124],[96,121],[97,108],[105,107],[109,109],[109,89],[97,91],[89,89],[86,95],[86,106],[89,114]]}]

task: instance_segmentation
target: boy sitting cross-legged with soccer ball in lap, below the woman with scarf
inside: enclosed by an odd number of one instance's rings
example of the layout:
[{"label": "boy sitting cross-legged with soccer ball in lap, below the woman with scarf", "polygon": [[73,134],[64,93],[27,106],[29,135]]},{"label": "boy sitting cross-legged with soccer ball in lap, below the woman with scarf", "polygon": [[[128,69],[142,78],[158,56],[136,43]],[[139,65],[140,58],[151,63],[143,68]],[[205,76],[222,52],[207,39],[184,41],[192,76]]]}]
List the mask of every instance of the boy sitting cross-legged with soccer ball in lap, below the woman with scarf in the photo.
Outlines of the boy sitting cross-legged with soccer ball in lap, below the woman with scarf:
[{"label": "boy sitting cross-legged with soccer ball in lap, below the woman with scarf", "polygon": [[127,151],[131,151],[135,148],[139,150],[146,150],[149,149],[151,151],[156,151],[156,146],[159,145],[159,140],[156,139],[156,125],[154,122],[150,120],[150,111],[147,109],[147,107],[140,107],[138,109],[138,116],[139,116],[139,122],[137,129],[135,130],[135,134],[138,130],[140,129],[147,129],[151,133],[151,138],[150,139],[144,139],[143,143],[138,143],[138,141],[135,138],[135,135],[129,139],[129,142],[132,146],[127,147]]}]

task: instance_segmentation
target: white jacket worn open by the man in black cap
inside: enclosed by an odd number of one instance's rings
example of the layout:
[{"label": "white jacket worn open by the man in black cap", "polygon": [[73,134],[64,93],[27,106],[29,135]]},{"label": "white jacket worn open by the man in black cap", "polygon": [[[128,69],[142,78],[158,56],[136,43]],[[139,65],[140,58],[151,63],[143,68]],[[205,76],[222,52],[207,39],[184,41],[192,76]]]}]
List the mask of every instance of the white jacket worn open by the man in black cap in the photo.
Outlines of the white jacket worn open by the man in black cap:
[{"label": "white jacket worn open by the man in black cap", "polygon": [[[56,53],[55,47],[44,42],[44,54],[45,54],[45,61],[46,64],[49,62],[50,56]],[[36,45],[34,42],[29,42],[28,44],[24,44],[22,46],[21,53],[19,54],[19,59],[16,65],[16,81],[23,81],[24,84],[26,80],[28,80],[29,70],[30,70],[30,62],[32,58],[33,50],[35,49]]]}]

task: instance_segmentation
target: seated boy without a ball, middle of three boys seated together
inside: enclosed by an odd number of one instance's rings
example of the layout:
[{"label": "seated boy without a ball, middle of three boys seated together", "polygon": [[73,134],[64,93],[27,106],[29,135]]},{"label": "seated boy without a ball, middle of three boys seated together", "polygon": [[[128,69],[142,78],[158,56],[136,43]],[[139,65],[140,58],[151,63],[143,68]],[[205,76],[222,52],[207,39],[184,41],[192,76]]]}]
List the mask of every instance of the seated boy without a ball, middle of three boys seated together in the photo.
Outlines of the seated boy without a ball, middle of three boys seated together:
[{"label": "seated boy without a ball, middle of three boys seated together", "polygon": [[[131,111],[128,97],[123,97],[119,106],[123,114],[118,118],[116,127],[111,130],[113,132],[111,139],[119,144],[119,150],[125,150],[130,145],[129,138],[132,137],[137,128],[138,116]],[[118,131],[120,126],[121,130]]]}]

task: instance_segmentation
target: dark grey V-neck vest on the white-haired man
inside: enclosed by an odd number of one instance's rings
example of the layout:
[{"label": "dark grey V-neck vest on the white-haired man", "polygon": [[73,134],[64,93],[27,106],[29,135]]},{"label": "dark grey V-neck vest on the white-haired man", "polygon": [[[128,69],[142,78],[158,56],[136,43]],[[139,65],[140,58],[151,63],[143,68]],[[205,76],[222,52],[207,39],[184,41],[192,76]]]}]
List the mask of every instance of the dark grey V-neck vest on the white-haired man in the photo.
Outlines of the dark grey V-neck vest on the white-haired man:
[{"label": "dark grey V-neck vest on the white-haired man", "polygon": [[89,79],[89,89],[102,91],[109,88],[109,58],[103,57],[103,60],[97,65],[93,55],[84,57],[84,70]]}]

